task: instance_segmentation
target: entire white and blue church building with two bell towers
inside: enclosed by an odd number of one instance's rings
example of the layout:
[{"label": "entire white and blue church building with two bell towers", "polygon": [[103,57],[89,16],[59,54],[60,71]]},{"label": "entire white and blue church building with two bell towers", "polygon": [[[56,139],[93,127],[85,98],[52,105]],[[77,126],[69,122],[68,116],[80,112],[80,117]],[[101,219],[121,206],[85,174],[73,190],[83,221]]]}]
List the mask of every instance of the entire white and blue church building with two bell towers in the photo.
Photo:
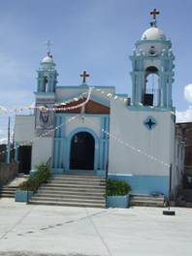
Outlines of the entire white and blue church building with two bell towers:
[{"label": "entire white and blue church building with two bell towers", "polygon": [[155,13],[130,56],[131,98],[114,86],[89,86],[86,72],[80,85],[57,85],[48,51],[38,70],[34,114],[16,115],[16,148],[31,144],[31,170],[48,163],[52,175],[108,175],[129,182],[132,193],[168,196],[178,183],[174,59]]}]

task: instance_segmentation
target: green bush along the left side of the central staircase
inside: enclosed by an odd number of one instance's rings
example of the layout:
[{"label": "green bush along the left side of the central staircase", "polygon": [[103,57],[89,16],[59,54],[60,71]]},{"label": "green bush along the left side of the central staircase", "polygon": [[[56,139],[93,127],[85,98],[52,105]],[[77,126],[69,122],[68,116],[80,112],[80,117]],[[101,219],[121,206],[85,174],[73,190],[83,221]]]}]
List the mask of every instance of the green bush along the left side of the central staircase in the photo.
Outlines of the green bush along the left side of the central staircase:
[{"label": "green bush along the left side of the central staircase", "polygon": [[33,176],[29,176],[28,180],[23,181],[18,187],[21,190],[37,191],[42,183],[48,181],[50,176],[50,168],[46,164],[41,164],[36,167],[37,173]]}]

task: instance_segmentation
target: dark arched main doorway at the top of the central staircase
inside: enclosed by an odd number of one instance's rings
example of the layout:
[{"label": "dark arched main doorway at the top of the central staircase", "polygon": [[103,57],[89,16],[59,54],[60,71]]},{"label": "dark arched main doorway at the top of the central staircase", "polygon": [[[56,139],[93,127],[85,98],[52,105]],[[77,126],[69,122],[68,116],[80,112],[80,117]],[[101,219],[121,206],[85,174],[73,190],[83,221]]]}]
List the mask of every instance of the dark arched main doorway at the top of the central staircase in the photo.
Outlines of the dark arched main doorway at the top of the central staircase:
[{"label": "dark arched main doorway at the top of the central staircase", "polygon": [[71,142],[70,169],[94,170],[95,140],[87,132],[74,135]]}]

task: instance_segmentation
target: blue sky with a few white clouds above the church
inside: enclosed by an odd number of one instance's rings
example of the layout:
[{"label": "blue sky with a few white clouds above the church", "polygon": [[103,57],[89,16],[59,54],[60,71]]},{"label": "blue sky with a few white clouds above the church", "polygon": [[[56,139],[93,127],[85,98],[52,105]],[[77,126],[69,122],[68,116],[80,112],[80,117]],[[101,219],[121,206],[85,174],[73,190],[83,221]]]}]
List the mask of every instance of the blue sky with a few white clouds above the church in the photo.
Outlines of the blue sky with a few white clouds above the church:
[{"label": "blue sky with a few white clouds above the church", "polygon": [[[58,85],[114,85],[131,95],[134,44],[149,27],[156,8],[158,26],[173,43],[177,121],[192,121],[191,0],[0,0],[0,106],[10,110],[34,102],[37,70],[52,42]],[[0,143],[8,116],[0,112]]]}]

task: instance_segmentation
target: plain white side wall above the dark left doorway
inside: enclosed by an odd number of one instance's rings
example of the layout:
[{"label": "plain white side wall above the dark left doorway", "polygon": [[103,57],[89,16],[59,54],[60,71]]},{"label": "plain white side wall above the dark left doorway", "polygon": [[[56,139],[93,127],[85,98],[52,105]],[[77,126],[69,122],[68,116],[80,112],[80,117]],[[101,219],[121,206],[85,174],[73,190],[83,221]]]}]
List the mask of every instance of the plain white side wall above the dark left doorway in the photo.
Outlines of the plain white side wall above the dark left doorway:
[{"label": "plain white side wall above the dark left doorway", "polygon": [[16,115],[15,141],[18,144],[27,143],[34,139],[35,116]]}]

